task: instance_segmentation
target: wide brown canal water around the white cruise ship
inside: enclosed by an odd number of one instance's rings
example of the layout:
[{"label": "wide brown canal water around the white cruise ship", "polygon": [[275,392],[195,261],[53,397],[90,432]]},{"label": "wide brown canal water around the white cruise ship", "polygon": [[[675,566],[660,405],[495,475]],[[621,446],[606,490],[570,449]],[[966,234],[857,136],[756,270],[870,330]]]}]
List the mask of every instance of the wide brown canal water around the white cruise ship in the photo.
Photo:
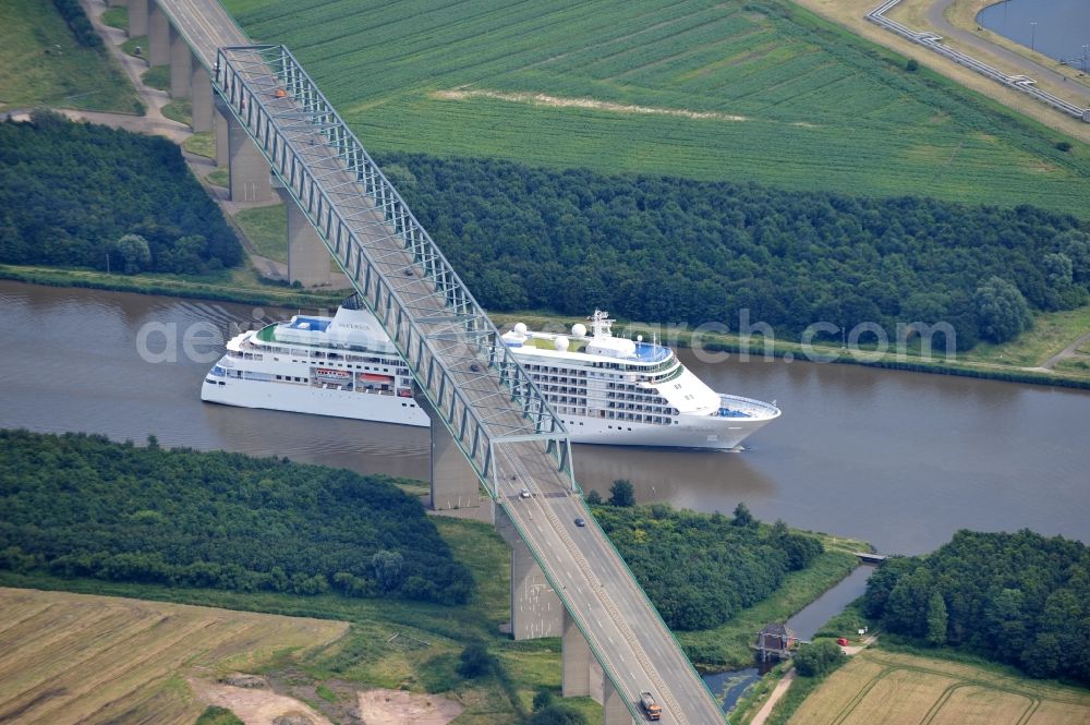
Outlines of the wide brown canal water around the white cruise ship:
[{"label": "wide brown canal water around the white cruise ship", "polygon": [[[0,281],[0,426],[88,431],[424,478],[422,428],[201,402],[216,352],[190,360],[186,330],[228,334],[250,306]],[[279,317],[283,311],[269,311]],[[146,325],[174,362],[137,352]],[[211,346],[215,347],[215,346]],[[209,346],[197,346],[207,353]],[[169,355],[168,355],[169,357]],[[960,528],[1090,541],[1090,394],[821,365],[682,359],[712,387],[784,415],[740,454],[577,446],[584,488],[632,481],[640,500],[856,536],[880,551],[930,551]]]}]

